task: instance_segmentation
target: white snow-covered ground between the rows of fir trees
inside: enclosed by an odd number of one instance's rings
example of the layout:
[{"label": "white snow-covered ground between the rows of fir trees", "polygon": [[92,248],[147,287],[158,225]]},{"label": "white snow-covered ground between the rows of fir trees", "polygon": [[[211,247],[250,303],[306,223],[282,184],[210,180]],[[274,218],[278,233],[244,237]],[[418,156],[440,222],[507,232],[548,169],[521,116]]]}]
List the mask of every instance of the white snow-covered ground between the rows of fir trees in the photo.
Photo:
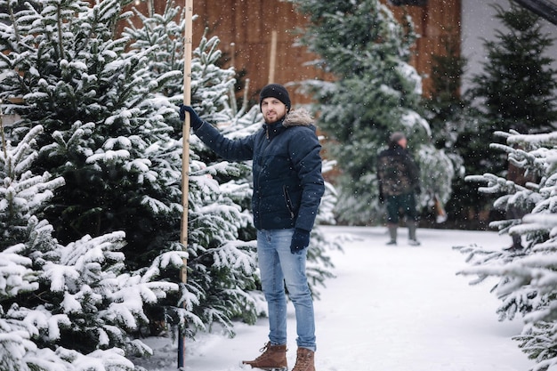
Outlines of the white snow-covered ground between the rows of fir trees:
[{"label": "white snow-covered ground between the rows of fir trees", "polygon": [[[498,301],[488,290],[495,281],[469,286],[456,276],[468,265],[451,247],[509,246],[495,232],[418,230],[422,246],[385,246],[384,228],[321,227],[331,238],[351,235],[343,253],[332,252],[334,279],[315,302],[317,371],[527,371],[534,362],[511,336],[521,320],[498,322]],[[295,319],[288,316],[288,365],[295,364]],[[267,342],[267,322],[238,324],[229,339],[218,333],[186,343],[186,371],[244,371]],[[138,365],[149,371],[177,369],[176,343],[146,342],[155,355]]]}]

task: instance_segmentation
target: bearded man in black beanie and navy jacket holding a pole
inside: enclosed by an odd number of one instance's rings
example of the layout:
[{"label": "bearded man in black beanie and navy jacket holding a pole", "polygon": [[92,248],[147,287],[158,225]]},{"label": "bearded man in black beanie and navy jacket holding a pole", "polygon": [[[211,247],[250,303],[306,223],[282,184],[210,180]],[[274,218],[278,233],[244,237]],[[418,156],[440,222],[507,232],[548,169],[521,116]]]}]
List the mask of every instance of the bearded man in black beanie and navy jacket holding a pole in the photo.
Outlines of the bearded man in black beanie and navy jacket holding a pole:
[{"label": "bearded man in black beanie and navy jacket holding a pole", "polygon": [[257,256],[262,290],[269,310],[269,342],[262,355],[246,365],[287,370],[287,297],[294,303],[298,346],[293,371],[315,371],[315,319],[305,275],[307,247],[319,203],[325,191],[321,175],[321,146],[311,116],[290,112],[287,89],[265,86],[260,109],[262,129],[236,141],[222,136],[188,106],[191,126],[199,139],[228,160],[253,160],[252,210],[257,230]]}]

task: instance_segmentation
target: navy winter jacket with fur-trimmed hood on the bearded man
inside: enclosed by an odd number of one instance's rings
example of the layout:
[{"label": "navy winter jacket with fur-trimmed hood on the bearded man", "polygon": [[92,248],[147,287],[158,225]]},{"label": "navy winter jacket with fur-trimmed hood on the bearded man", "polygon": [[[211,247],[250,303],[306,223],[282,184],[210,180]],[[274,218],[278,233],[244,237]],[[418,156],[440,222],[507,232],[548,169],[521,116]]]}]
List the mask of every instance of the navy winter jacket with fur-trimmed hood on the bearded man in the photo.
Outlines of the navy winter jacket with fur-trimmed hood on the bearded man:
[{"label": "navy winter jacket with fur-trimmed hood on the bearded man", "polygon": [[315,130],[311,116],[298,109],[238,140],[224,137],[206,122],[195,133],[227,160],[253,160],[257,230],[311,230],[325,191]]}]

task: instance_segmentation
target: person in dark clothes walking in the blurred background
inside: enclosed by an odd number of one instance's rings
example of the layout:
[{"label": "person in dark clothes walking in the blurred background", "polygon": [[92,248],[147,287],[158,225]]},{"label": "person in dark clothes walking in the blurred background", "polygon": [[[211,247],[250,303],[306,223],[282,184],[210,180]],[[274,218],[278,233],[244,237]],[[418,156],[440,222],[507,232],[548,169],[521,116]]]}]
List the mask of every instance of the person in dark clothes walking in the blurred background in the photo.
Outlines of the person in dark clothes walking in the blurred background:
[{"label": "person in dark clothes walking in the blurred background", "polygon": [[410,157],[404,133],[392,133],[389,148],[377,158],[379,200],[387,204],[387,228],[391,240],[387,245],[397,245],[397,227],[402,209],[408,226],[408,244],[419,246],[416,239],[417,214],[415,193],[420,193],[419,169]]}]

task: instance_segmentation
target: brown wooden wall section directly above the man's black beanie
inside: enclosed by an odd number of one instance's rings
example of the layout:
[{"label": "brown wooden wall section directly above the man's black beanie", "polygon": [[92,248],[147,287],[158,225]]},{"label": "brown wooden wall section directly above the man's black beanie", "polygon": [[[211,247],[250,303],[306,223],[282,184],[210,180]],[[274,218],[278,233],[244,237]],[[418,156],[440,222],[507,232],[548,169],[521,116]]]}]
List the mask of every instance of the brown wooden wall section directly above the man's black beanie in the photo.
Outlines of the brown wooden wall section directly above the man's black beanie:
[{"label": "brown wooden wall section directly above the man's black beanie", "polygon": [[[246,70],[252,96],[256,97],[269,83],[284,85],[325,77],[322,71],[304,66],[313,59],[305,48],[293,46],[293,32],[305,20],[294,11],[292,4],[278,0],[222,0],[218,5],[210,1],[194,1],[197,2],[194,13],[199,15],[194,21],[194,40],[204,28],[219,36],[222,51],[230,56],[230,65],[237,70]],[[275,47],[271,47],[273,41]],[[272,62],[271,51],[275,51]],[[292,95],[294,104],[303,101],[303,97],[293,92]]]}]

